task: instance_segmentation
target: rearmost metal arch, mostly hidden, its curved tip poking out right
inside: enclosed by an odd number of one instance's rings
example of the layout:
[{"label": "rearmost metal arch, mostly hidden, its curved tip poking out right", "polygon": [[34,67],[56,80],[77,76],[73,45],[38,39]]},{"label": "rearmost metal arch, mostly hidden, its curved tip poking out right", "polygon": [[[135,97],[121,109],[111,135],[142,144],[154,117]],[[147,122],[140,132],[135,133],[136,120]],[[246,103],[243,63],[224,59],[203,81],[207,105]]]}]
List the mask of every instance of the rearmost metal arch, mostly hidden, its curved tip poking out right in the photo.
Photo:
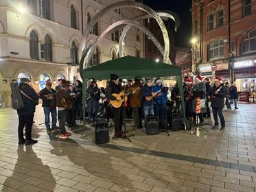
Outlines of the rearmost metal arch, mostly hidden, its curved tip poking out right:
[{"label": "rearmost metal arch, mostly hidden, its curved tip poking out right", "polygon": [[[175,22],[175,31],[178,29],[178,27],[180,27],[181,21],[180,21],[178,15],[175,12],[162,11],[162,12],[156,12],[156,13],[159,14],[159,16],[161,16],[161,18],[162,17],[166,17],[166,18],[172,19]],[[152,18],[152,15],[148,14],[148,15],[138,16],[138,17],[136,17],[135,19],[132,19],[132,20],[133,21],[140,21],[140,20],[150,19],[150,18]],[[123,50],[124,50],[124,39],[126,38],[126,34],[128,33],[130,27],[131,26],[127,25],[124,28],[123,32],[121,33],[120,40],[119,40],[119,53],[120,53],[120,57],[124,56],[124,53],[123,53]],[[154,43],[154,44],[156,45],[156,43]],[[162,53],[162,55],[163,55],[163,53]],[[171,62],[168,62],[168,63],[171,64]]]}]

